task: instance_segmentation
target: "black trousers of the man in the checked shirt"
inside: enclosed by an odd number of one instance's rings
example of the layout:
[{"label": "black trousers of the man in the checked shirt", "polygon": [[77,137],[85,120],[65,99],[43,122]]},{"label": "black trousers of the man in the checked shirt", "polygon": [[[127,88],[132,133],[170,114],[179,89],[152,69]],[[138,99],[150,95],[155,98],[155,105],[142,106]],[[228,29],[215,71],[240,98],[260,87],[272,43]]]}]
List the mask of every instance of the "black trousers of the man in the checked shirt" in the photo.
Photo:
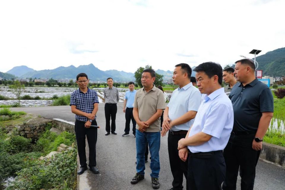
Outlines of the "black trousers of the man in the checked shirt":
[{"label": "black trousers of the man in the checked shirt", "polygon": [[[85,121],[75,120],[75,135],[77,141],[77,150],[81,167],[86,167],[86,153],[85,153],[85,135],[87,137],[89,147],[89,167],[96,166],[96,142],[97,142],[97,128],[85,128]],[[92,121],[91,125],[97,125],[96,120]]]}]

